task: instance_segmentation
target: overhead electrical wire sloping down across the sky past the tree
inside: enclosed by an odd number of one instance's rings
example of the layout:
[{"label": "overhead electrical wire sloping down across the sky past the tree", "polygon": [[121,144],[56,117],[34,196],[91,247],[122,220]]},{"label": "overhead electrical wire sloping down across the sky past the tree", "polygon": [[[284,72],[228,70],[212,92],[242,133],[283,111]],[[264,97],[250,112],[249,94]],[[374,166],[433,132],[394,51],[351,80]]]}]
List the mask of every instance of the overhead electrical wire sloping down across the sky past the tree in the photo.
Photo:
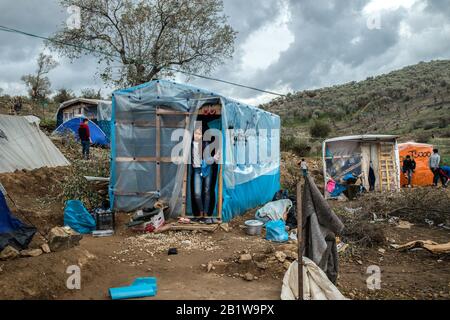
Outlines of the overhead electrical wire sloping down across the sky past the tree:
[{"label": "overhead electrical wire sloping down across the sky past the tree", "polygon": [[[67,42],[63,42],[63,41],[58,41],[58,40],[55,40],[55,39],[51,39],[51,38],[40,36],[40,35],[36,35],[36,34],[30,33],[30,32],[25,32],[25,31],[22,31],[22,30],[6,27],[6,26],[3,26],[3,25],[0,25],[0,31],[16,33],[16,34],[20,34],[20,35],[25,35],[25,36],[29,36],[29,37],[33,37],[33,38],[37,38],[37,39],[53,42],[53,43],[56,43],[56,44],[59,44],[59,45],[63,45],[63,46],[69,46],[69,47],[73,47],[73,48],[76,48],[76,49],[82,49],[82,50],[86,50],[86,51],[89,51],[89,52],[102,54],[102,55],[108,56],[110,58],[115,58],[115,59],[117,59],[118,62],[121,62],[120,58],[117,55],[104,52],[103,50],[95,50],[95,49],[92,49],[92,48],[76,45],[76,44],[73,44],[73,43],[67,43]],[[152,65],[152,66],[156,67],[155,65]],[[270,95],[275,95],[275,96],[280,96],[280,97],[285,97],[286,96],[286,95],[281,94],[281,93],[268,91],[268,90],[263,90],[263,89],[259,89],[259,88],[256,88],[256,87],[240,84],[240,83],[237,83],[237,82],[232,82],[232,81],[223,80],[223,79],[219,79],[219,78],[209,77],[209,76],[205,76],[205,75],[201,75],[201,74],[197,74],[197,73],[193,73],[193,72],[188,72],[188,71],[180,70],[180,69],[177,69],[177,68],[164,67],[163,69],[164,70],[168,70],[168,71],[172,71],[172,72],[175,72],[175,73],[181,73],[181,74],[184,74],[184,75],[187,75],[187,76],[190,76],[190,77],[196,77],[196,78],[200,78],[200,79],[216,81],[216,82],[228,84],[228,85],[235,86],[235,87],[240,87],[240,88],[244,88],[244,89],[249,89],[249,90],[258,91],[258,92],[262,92],[262,93],[267,93],[267,94],[270,94]]]}]

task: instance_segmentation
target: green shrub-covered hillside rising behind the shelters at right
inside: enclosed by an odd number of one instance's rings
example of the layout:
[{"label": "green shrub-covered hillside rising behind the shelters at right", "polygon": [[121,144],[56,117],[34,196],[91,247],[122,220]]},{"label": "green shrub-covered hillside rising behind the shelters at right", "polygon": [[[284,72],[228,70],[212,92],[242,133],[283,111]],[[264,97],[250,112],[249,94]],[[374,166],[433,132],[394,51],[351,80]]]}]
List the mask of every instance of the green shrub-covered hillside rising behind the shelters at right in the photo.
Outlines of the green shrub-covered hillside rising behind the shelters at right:
[{"label": "green shrub-covered hillside rising behind the shelters at right", "polygon": [[351,134],[396,134],[450,151],[450,60],[288,94],[262,108],[282,117],[282,144],[303,155],[318,154],[326,137]]}]

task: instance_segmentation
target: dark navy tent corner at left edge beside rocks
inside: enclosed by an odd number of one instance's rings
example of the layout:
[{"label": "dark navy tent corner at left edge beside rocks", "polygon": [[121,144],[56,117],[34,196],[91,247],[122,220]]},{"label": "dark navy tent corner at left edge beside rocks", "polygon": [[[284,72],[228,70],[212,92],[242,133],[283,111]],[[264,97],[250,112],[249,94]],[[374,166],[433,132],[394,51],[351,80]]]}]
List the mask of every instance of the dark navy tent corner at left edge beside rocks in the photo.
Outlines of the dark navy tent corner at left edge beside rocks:
[{"label": "dark navy tent corner at left edge beside rocks", "polygon": [[0,251],[10,245],[16,249],[26,249],[36,233],[36,228],[23,224],[13,217],[0,191]]}]

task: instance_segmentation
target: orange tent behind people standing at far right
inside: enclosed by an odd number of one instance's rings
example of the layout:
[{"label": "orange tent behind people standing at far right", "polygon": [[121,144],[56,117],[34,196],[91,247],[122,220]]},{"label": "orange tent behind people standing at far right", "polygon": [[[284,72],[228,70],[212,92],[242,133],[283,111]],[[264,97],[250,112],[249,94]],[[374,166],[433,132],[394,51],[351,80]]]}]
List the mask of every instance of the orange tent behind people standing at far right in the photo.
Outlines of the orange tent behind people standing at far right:
[{"label": "orange tent behind people standing at far right", "polygon": [[[398,145],[400,152],[400,167],[406,156],[411,156],[416,161],[416,170],[413,175],[413,186],[431,186],[433,184],[433,172],[430,170],[429,160],[433,154],[433,146],[423,143],[407,142]],[[401,175],[401,185],[408,184],[406,177]]]}]

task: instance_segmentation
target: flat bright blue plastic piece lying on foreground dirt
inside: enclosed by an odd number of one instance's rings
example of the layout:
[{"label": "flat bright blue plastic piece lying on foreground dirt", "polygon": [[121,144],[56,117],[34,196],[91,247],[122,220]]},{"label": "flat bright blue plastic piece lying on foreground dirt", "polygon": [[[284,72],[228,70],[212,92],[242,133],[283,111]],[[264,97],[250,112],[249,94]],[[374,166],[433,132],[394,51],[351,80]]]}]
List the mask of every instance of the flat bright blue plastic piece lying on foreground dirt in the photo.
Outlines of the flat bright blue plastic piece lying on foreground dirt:
[{"label": "flat bright blue plastic piece lying on foreground dirt", "polygon": [[109,295],[113,300],[154,297],[157,292],[156,278],[138,278],[131,286],[109,289]]}]

